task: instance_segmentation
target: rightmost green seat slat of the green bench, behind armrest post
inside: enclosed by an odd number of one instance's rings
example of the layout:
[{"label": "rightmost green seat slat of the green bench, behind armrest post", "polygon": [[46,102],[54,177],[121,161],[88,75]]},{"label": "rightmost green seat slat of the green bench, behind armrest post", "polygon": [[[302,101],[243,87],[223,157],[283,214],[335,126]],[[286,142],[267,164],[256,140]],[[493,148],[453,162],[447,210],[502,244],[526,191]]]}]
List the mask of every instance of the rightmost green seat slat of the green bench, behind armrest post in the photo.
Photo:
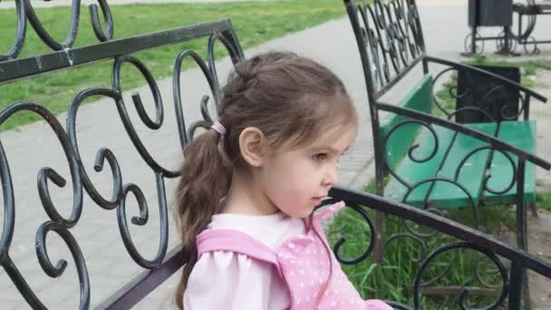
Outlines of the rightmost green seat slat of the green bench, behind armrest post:
[{"label": "rightmost green seat slat of the green bench, behind armrest post", "polygon": [[[519,149],[536,153],[536,121],[504,121],[499,128],[499,138]],[[490,172],[492,178],[488,180],[490,189],[505,189],[512,178],[513,171],[507,158],[498,152],[494,152]],[[511,156],[517,165],[517,157]],[[527,162],[525,175],[525,201],[536,201],[536,166]],[[486,204],[512,204],[515,202],[517,186],[507,191],[505,194],[495,195],[485,191]]]}]

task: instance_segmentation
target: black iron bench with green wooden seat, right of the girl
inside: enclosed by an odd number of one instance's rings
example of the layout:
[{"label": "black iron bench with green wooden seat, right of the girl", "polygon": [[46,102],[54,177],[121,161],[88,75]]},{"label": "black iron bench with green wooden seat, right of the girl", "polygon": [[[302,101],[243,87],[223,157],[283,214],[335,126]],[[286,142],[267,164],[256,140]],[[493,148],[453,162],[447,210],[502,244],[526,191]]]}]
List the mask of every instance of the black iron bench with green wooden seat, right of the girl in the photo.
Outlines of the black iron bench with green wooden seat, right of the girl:
[{"label": "black iron bench with green wooden seat, right of the girl", "polygon": [[[523,209],[535,201],[536,167],[517,160],[517,154],[496,152],[486,140],[464,134],[473,129],[498,137],[515,146],[515,151],[533,153],[536,150],[535,122],[529,120],[530,100],[546,98],[516,82],[478,68],[430,57],[425,52],[420,16],[414,1],[344,0],[362,58],[363,73],[368,91],[372,134],[375,145],[377,193],[420,208],[472,207],[478,224],[478,207],[482,204],[517,204]],[[409,75],[418,63],[423,75],[389,114],[382,96]],[[430,65],[445,69],[433,77]],[[456,72],[467,76],[462,92],[452,94],[456,99],[470,96],[479,85],[469,84],[472,77],[483,76],[495,84],[486,95],[474,98],[469,106],[442,107],[435,96],[434,84],[444,73]],[[411,73],[413,74],[413,73]],[[470,78],[469,78],[470,76]],[[479,81],[479,80],[478,80]],[[403,87],[403,86],[401,86]],[[457,91],[457,86],[454,86]],[[488,96],[501,89],[513,90],[520,108],[511,111],[507,102],[485,106]],[[420,111],[423,120],[404,117],[401,111]],[[467,112],[487,119],[487,122],[465,123],[464,127],[449,130],[449,123],[432,128],[428,114],[440,111],[447,120],[458,119]],[[496,117],[496,112],[497,116]],[[524,114],[524,120],[517,117]],[[426,121],[425,121],[426,120]],[[540,163],[536,163],[540,165]],[[388,183],[385,176],[391,176]],[[493,176],[498,174],[498,178]],[[518,184],[524,184],[518,187]],[[518,226],[521,228],[520,224]],[[521,230],[523,231],[523,230]],[[524,246],[523,246],[524,247]]]}]

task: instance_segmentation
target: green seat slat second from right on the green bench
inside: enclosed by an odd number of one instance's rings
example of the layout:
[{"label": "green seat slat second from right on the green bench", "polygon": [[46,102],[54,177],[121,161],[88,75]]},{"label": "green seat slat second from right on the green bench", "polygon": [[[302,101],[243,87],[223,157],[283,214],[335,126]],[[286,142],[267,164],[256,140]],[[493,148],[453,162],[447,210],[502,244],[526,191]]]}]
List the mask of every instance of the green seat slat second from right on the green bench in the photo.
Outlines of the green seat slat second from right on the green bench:
[{"label": "green seat slat second from right on the green bench", "polygon": [[[495,135],[497,128],[497,124],[492,122],[465,125],[470,129],[482,131],[490,136]],[[465,159],[472,150],[485,145],[488,145],[488,143],[464,134],[458,134],[440,170],[439,177],[453,179],[461,160]],[[479,150],[472,154],[460,169],[458,183],[469,192],[473,199],[472,202],[469,195],[457,185],[448,182],[437,182],[430,192],[430,200],[434,202],[433,207],[460,208],[470,207],[473,203],[478,205],[479,195],[482,191],[482,181],[486,167],[488,167],[489,153],[489,150]]]}]

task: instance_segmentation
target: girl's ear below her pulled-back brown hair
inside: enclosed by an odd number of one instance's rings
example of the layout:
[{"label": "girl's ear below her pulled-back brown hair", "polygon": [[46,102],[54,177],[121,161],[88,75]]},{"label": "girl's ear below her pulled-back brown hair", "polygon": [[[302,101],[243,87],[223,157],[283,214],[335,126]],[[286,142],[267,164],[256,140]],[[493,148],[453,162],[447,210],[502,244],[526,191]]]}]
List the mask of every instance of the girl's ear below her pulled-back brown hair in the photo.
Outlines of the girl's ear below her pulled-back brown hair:
[{"label": "girl's ear below her pulled-back brown hair", "polygon": [[241,156],[253,167],[260,167],[266,155],[266,138],[256,127],[247,127],[239,134]]}]

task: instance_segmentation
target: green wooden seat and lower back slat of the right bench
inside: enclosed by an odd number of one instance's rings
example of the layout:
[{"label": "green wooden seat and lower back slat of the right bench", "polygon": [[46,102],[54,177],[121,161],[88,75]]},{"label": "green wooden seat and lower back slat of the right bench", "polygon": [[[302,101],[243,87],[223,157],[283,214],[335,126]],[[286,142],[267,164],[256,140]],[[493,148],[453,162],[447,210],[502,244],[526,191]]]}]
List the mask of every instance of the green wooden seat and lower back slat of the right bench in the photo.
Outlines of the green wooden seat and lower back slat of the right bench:
[{"label": "green wooden seat and lower back slat of the right bench", "polygon": [[[433,102],[432,86],[430,74],[425,74],[399,103],[400,106],[430,112],[431,102]],[[427,206],[460,208],[473,204],[478,207],[481,203],[515,202],[516,186],[512,186],[506,193],[499,194],[485,190],[484,183],[488,172],[491,172],[492,176],[488,179],[488,188],[494,191],[501,192],[514,182],[512,179],[514,170],[506,156],[495,151],[478,150],[466,159],[470,152],[488,144],[457,131],[434,126],[433,129],[438,138],[438,146],[436,146],[436,139],[428,128],[421,126],[418,122],[397,126],[404,121],[407,122],[408,119],[397,114],[390,114],[381,120],[381,141],[385,141],[387,135],[394,129],[386,144],[382,146],[385,150],[388,169],[392,172],[384,188],[385,197],[420,208]],[[503,121],[499,124],[470,123],[465,126],[490,136],[497,136],[521,150],[528,152],[536,150],[535,121]],[[411,150],[415,145],[417,147]],[[435,147],[438,149],[435,150]],[[410,150],[411,155],[408,154]],[[516,158],[513,155],[510,156],[517,164]],[[447,181],[428,181],[433,178],[453,180],[463,160],[465,162],[459,170],[457,179],[457,183],[463,189]],[[413,189],[408,189],[397,178],[409,183]],[[535,201],[536,179],[535,166],[531,163],[527,163],[525,178],[525,202],[532,203]],[[418,183],[420,184],[415,186]]]}]

